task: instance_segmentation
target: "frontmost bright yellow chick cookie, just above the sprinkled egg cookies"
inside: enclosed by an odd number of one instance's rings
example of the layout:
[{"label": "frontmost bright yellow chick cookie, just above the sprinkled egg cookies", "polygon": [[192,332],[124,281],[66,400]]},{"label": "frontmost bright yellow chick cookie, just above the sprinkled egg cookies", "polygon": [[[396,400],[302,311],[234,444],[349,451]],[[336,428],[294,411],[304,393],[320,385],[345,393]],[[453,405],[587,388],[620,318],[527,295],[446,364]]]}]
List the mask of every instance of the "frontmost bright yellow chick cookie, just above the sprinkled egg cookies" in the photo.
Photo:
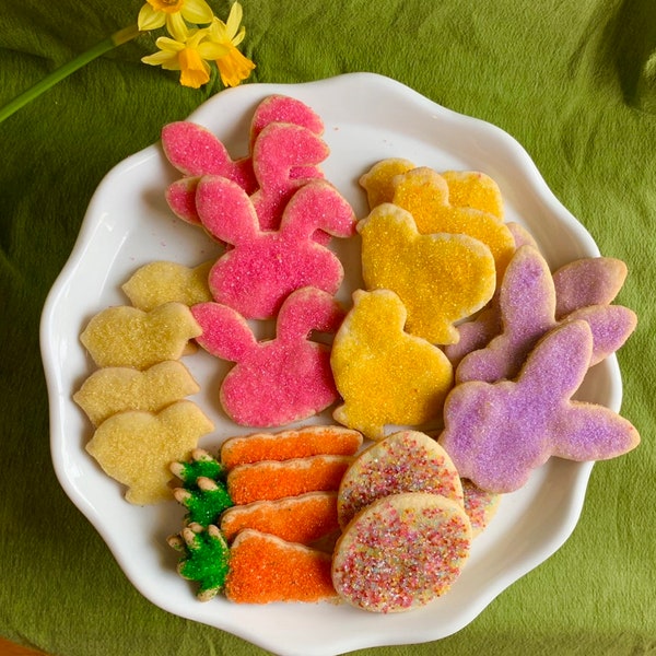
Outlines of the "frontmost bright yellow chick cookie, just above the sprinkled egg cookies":
[{"label": "frontmost bright yellow chick cookie, just above the sprinkled egg cookies", "polygon": [[420,425],[440,415],[453,385],[444,353],[403,330],[406,308],[389,290],[353,294],[330,364],[343,405],[333,417],[372,440],[385,424]]}]

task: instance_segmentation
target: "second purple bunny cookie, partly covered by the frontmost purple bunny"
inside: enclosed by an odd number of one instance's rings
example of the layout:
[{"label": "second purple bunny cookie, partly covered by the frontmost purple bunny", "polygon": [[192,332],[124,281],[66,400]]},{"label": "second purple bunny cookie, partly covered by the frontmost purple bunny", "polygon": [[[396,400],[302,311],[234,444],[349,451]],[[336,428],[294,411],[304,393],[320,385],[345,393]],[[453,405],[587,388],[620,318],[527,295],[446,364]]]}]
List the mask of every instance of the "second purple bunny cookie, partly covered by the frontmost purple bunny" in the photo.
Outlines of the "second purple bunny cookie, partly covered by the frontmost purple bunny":
[{"label": "second purple bunny cookie, partly covered by the frontmost purple bunny", "polygon": [[[553,278],[535,247],[522,246],[513,256],[499,291],[499,307],[501,335],[460,361],[458,383],[513,378],[536,342],[558,325]],[[564,320],[574,319],[585,319],[593,330],[590,366],[617,351],[636,325],[635,313],[620,305],[584,307]]]}]

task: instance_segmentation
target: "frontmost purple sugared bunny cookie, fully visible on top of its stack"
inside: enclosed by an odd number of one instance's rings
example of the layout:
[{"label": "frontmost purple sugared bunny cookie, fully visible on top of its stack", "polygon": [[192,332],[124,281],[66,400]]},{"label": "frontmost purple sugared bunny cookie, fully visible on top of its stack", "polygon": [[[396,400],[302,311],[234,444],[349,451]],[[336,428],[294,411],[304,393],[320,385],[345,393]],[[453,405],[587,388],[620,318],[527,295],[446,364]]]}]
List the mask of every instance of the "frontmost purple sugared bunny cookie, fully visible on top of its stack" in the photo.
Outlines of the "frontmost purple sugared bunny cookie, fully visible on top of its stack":
[{"label": "frontmost purple sugared bunny cookie, fully visible on top of its stack", "polygon": [[567,321],[538,343],[516,382],[454,387],[440,444],[459,475],[489,492],[513,492],[551,456],[602,460],[637,446],[629,421],[604,406],[571,400],[591,353],[589,326]]}]

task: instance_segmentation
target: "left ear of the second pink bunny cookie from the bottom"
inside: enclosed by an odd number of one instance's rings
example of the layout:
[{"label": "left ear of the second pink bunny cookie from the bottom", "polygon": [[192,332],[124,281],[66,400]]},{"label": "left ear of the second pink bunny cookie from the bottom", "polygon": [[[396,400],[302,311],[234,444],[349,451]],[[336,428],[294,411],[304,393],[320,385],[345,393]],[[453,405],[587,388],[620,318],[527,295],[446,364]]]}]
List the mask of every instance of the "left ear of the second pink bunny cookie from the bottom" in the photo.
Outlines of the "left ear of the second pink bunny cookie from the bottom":
[{"label": "left ear of the second pink bunny cookie from the bottom", "polygon": [[196,209],[204,229],[222,242],[239,244],[259,234],[250,198],[227,178],[203,176],[196,189]]}]

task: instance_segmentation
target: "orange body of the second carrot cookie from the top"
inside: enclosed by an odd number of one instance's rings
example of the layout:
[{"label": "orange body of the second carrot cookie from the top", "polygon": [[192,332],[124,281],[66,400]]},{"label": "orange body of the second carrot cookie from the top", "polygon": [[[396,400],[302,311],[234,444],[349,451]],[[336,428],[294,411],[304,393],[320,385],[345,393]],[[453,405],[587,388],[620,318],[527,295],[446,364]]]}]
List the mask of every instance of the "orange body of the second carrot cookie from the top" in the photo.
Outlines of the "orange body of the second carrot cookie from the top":
[{"label": "orange body of the second carrot cookie from the top", "polygon": [[352,460],[350,456],[311,456],[238,465],[227,473],[227,492],[235,504],[246,504],[337,490]]}]

